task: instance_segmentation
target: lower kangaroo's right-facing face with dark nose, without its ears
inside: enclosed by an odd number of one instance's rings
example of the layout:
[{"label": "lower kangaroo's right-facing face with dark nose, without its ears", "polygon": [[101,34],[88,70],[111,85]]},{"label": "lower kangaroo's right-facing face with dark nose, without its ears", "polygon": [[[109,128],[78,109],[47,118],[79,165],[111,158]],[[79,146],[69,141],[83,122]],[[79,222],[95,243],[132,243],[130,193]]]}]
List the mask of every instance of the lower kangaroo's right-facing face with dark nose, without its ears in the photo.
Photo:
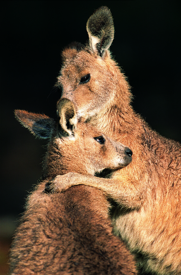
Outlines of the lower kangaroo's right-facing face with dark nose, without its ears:
[{"label": "lower kangaroo's right-facing face with dark nose, without its ears", "polygon": [[78,123],[72,135],[56,137],[52,142],[59,148],[67,171],[94,175],[103,169],[125,167],[132,161],[128,147],[109,139],[90,124]]}]

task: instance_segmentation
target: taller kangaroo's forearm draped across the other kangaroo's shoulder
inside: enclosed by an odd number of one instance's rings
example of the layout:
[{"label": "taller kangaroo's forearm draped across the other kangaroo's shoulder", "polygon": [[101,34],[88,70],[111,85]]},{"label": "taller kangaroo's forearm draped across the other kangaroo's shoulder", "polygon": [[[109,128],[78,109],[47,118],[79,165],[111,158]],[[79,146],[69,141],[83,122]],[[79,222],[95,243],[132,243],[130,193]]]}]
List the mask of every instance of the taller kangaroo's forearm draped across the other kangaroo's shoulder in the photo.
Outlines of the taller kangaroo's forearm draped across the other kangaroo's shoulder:
[{"label": "taller kangaroo's forearm draped across the other kangaroo's shoulder", "polygon": [[89,185],[102,190],[107,197],[112,198],[118,204],[127,208],[140,208],[142,204],[142,193],[137,190],[132,182],[121,178],[98,178],[94,176],[81,175],[70,172],[63,176],[57,176],[49,182],[49,192],[62,192],[74,185]]}]

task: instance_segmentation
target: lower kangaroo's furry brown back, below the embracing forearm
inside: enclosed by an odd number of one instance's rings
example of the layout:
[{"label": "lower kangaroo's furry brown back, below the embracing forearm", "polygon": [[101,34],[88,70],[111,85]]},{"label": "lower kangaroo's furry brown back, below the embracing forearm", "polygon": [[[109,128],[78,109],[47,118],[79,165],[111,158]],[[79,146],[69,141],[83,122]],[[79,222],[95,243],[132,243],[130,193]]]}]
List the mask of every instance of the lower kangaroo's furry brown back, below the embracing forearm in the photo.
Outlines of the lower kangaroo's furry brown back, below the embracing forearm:
[{"label": "lower kangaroo's furry brown back, below the embracing forearm", "polygon": [[132,255],[112,234],[105,196],[98,189],[79,185],[64,193],[41,194],[28,208],[11,249],[10,274],[136,271]]}]

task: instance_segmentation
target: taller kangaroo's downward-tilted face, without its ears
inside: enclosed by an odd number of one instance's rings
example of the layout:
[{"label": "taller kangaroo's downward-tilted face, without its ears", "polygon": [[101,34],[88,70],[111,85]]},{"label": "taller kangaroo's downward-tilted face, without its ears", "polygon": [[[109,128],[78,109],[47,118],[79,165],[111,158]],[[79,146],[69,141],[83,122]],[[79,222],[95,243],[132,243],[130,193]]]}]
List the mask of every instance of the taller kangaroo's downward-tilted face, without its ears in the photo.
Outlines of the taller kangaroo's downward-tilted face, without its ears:
[{"label": "taller kangaroo's downward-tilted face, without its ears", "polygon": [[116,80],[108,65],[86,50],[65,61],[57,85],[62,97],[74,102],[78,117],[92,117],[113,100]]}]

